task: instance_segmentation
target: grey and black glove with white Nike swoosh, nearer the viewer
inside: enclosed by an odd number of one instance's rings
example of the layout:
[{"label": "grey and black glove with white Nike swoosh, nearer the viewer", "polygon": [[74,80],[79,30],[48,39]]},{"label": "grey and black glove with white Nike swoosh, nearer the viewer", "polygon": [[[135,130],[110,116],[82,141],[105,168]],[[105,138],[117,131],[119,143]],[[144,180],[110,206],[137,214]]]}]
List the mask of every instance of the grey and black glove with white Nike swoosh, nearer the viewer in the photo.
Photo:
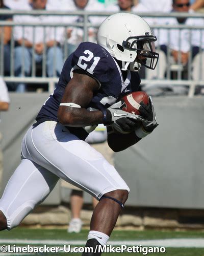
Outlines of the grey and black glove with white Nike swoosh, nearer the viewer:
[{"label": "grey and black glove with white Nike swoosh, nearer the viewer", "polygon": [[121,105],[122,102],[118,101],[103,111],[104,124],[112,126],[119,133],[126,134],[134,131],[138,123],[145,121],[145,119],[139,115],[121,110]]}]

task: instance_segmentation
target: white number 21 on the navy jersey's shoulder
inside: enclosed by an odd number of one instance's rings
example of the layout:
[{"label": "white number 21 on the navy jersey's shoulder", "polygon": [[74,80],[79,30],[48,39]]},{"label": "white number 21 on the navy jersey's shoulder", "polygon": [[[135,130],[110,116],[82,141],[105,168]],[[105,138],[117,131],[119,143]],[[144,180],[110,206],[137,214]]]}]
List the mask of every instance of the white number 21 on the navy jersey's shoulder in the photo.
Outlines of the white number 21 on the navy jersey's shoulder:
[{"label": "white number 21 on the navy jersey's shoulder", "polygon": [[[90,74],[93,74],[93,70],[95,69],[98,61],[100,60],[100,57],[94,57],[93,53],[89,50],[84,51],[84,54],[88,54],[88,57],[85,56],[80,56],[77,65],[84,69],[87,70],[87,72],[89,72]],[[90,61],[93,58],[93,64],[91,65],[91,67],[89,69],[87,69],[88,65],[86,63],[82,64],[82,60],[84,60],[85,62]]]}]

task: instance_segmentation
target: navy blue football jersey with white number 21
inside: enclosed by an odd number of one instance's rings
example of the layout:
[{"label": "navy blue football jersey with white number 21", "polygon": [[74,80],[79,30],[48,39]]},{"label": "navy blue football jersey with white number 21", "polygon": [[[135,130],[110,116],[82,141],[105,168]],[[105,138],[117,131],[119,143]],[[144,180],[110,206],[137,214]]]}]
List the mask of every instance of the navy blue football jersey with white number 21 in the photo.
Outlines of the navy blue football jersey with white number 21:
[{"label": "navy blue football jersey with white number 21", "polygon": [[[35,125],[45,120],[58,121],[59,105],[75,69],[84,70],[98,82],[98,91],[94,93],[87,109],[107,109],[123,95],[138,91],[140,84],[138,73],[127,71],[127,77],[123,81],[117,62],[106,49],[92,42],[82,42],[77,50],[66,59],[57,88],[42,106],[36,117]],[[88,135],[83,127],[66,127],[80,139],[85,139]]]}]

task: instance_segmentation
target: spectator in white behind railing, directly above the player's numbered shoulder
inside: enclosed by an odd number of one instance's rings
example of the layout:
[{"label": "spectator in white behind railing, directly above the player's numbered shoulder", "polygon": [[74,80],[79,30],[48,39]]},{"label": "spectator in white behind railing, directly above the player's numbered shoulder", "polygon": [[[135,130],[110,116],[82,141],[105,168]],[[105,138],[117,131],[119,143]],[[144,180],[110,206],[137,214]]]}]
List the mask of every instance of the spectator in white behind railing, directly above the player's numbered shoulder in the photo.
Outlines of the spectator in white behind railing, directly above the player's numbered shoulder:
[{"label": "spectator in white behind railing, directly above the player's numbered shoulder", "polygon": [[[72,4],[70,3],[72,2]],[[63,6],[63,10],[68,11],[94,11],[95,13],[103,11],[104,5],[91,0],[67,0],[67,5]],[[93,25],[100,25],[105,17],[90,16],[88,21]],[[83,23],[84,16],[64,16],[64,23]],[[88,28],[88,41],[96,41],[97,29],[94,27]],[[83,41],[84,30],[80,27],[69,27],[65,32],[65,38],[67,38],[67,56],[72,53],[79,44]],[[66,43],[66,42],[65,42]]]}]

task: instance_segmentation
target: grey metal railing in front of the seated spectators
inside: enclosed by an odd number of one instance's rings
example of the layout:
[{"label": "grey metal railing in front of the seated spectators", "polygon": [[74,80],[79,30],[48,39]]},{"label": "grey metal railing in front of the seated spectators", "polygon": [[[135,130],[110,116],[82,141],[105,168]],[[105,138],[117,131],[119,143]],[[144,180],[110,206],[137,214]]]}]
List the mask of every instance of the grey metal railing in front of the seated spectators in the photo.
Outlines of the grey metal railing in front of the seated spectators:
[{"label": "grey metal railing in front of the seated spectators", "polygon": [[[1,52],[0,52],[0,75],[2,75],[4,77],[4,80],[6,82],[15,82],[15,83],[20,83],[20,82],[24,82],[24,83],[48,83],[48,90],[49,92],[53,92],[54,88],[55,88],[55,83],[58,81],[58,77],[56,74],[56,70],[54,72],[54,75],[52,77],[47,77],[46,76],[46,42],[45,42],[45,29],[47,27],[52,27],[54,29],[54,34],[56,37],[57,31],[59,29],[64,29],[67,30],[68,27],[78,27],[78,28],[83,28],[84,34],[83,34],[83,40],[87,41],[88,40],[88,28],[89,27],[95,27],[98,28],[98,25],[93,25],[90,24],[88,22],[88,17],[89,16],[109,16],[113,13],[107,13],[107,12],[97,12],[93,13],[93,12],[84,12],[84,11],[77,11],[77,12],[67,12],[67,11],[44,11],[44,10],[32,10],[32,11],[14,11],[14,10],[3,10],[0,9],[0,15],[1,14],[12,14],[12,15],[52,15],[52,16],[75,16],[75,15],[80,15],[84,17],[84,22],[82,23],[43,23],[40,24],[39,23],[20,23],[17,24],[14,21],[0,21],[0,28],[3,29],[3,27],[5,26],[10,26],[12,28],[12,36],[11,36],[11,41],[10,41],[10,75],[9,76],[5,76],[4,75],[4,33],[1,34],[1,38],[0,38],[0,46],[1,46]],[[137,13],[140,16],[143,17],[196,17],[196,18],[204,18],[204,15],[201,13]],[[30,76],[25,75],[25,71],[24,71],[24,63],[22,63],[22,74],[21,77],[18,77],[15,75],[15,71],[14,71],[14,51],[15,51],[15,38],[14,38],[14,29],[16,26],[21,26],[23,33],[24,33],[24,29],[25,27],[29,26],[29,27],[33,27],[33,40],[35,40],[34,38],[37,36],[35,34],[35,30],[37,27],[43,27],[43,33],[44,33],[44,40],[43,40],[43,44],[44,44],[44,49],[42,52],[42,76],[41,77],[37,77],[36,76],[36,62],[35,62],[35,49],[34,49],[34,44],[32,47],[32,70],[31,70],[31,74]],[[180,32],[183,29],[187,29],[189,31],[195,31],[198,30],[200,31],[200,45],[201,45],[201,40],[202,37],[204,38],[204,35],[202,36],[202,33],[204,33],[204,25],[203,26],[186,26],[186,25],[151,25],[152,29],[166,29],[168,31],[168,42],[170,42],[170,30],[175,29],[175,30],[179,30]],[[190,33],[190,37],[189,37],[189,41],[191,41],[191,37],[192,37],[192,33]],[[67,58],[67,38],[64,37],[63,38],[64,44],[63,44],[63,55],[64,55],[64,59]],[[181,41],[181,40],[180,40]],[[204,45],[204,42],[203,42]],[[22,44],[22,47],[24,48],[24,44]],[[56,43],[54,45],[54,47],[57,47]],[[181,49],[181,43],[180,43],[180,49]],[[160,50],[160,46],[158,46],[158,50]],[[201,54],[204,51],[204,49],[201,49],[201,47],[199,47],[199,53]],[[170,49],[170,45],[167,45],[167,53],[166,53],[166,60],[167,60],[167,69],[166,69],[166,75],[164,77],[164,79],[142,79],[141,83],[142,84],[148,84],[149,86],[151,86],[151,84],[159,84],[161,87],[162,86],[168,86],[168,85],[173,85],[173,86],[177,86],[177,85],[182,85],[182,86],[188,86],[189,87],[189,97],[193,97],[194,92],[195,92],[195,87],[196,86],[204,86],[204,79],[197,79],[197,80],[193,80],[191,77],[191,64],[192,64],[192,47],[190,48],[190,54],[189,54],[189,61],[188,61],[188,65],[186,67],[187,69],[187,77],[185,79],[182,79],[182,72],[183,69],[182,67],[182,63],[181,63],[181,52],[179,53],[179,59],[178,59],[178,63],[177,63],[177,70],[175,69],[174,71],[172,71],[172,63],[171,63],[171,49]],[[56,57],[56,56],[55,56]],[[55,57],[54,57],[54,61],[55,61]],[[55,66],[55,65],[54,65]],[[200,58],[200,66],[199,66],[199,73],[203,73],[204,71],[204,63],[202,63],[201,58]],[[159,69],[158,69],[159,72]],[[176,72],[176,79],[172,79],[171,75],[172,72]],[[158,74],[159,76],[159,74]]]}]

